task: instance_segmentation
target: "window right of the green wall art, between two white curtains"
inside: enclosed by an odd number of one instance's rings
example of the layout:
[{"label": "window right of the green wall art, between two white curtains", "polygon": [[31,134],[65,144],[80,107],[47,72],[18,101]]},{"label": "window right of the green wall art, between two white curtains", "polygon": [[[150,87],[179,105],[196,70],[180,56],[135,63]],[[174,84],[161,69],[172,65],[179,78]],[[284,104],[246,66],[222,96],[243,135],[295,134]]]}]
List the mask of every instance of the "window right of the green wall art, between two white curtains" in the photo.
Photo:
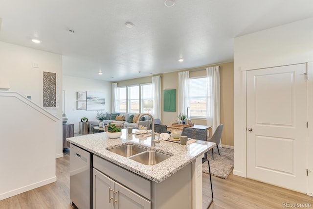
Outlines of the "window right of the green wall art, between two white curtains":
[{"label": "window right of the green wall art, between two white curtains", "polygon": [[206,117],[206,77],[190,78],[190,117]]}]

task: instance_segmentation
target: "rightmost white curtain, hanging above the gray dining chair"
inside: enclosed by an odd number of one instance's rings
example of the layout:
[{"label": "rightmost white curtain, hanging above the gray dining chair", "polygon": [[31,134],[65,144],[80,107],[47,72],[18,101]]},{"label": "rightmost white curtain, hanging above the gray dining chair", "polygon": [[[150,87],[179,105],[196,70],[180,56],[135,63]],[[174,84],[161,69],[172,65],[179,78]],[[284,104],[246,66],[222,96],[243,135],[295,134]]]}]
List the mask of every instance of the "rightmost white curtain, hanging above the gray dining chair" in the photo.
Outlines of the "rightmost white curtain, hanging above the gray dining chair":
[{"label": "rightmost white curtain, hanging above the gray dining chair", "polygon": [[206,124],[212,126],[214,133],[220,125],[220,67],[206,68],[206,79]]}]

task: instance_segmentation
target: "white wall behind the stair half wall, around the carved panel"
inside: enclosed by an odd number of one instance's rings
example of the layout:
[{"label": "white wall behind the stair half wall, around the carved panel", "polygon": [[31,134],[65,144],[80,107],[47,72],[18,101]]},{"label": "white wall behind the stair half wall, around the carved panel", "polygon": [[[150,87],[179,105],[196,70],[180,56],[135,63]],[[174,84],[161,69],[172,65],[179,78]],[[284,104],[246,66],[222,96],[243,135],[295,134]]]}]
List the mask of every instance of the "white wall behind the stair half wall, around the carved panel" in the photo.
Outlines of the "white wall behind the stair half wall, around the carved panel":
[{"label": "white wall behind the stair half wall, around the carved panel", "polygon": [[[32,63],[39,64],[33,68]],[[57,108],[46,109],[52,115],[62,119],[62,56],[0,42],[0,88],[9,86],[9,91],[22,95],[31,95],[31,100],[43,107],[43,71],[57,73]],[[5,118],[7,123],[16,125],[15,120]],[[22,123],[29,118],[21,118]],[[41,121],[38,121],[38,124]],[[0,130],[2,131],[2,130]],[[55,153],[62,157],[62,122],[56,128]]]}]

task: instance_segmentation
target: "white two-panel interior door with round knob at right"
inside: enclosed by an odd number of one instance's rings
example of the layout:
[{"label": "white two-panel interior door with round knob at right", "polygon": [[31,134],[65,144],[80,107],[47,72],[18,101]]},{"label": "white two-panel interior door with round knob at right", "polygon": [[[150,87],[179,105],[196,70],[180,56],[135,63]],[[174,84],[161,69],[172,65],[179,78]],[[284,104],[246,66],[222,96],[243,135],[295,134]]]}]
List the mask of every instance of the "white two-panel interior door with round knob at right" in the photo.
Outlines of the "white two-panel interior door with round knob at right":
[{"label": "white two-panel interior door with round knob at right", "polygon": [[246,72],[247,177],[306,192],[307,66]]}]

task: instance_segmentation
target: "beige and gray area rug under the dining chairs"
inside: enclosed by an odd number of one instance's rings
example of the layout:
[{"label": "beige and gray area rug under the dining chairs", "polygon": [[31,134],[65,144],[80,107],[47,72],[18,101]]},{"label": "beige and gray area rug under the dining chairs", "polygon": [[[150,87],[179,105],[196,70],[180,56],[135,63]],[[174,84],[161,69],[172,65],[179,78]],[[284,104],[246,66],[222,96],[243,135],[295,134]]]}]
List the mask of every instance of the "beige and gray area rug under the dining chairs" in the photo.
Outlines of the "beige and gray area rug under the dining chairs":
[{"label": "beige and gray area rug under the dining chairs", "polygon": [[[212,151],[208,152],[207,157],[210,162],[211,175],[227,179],[234,167],[234,150],[220,147],[219,149],[221,155],[219,155],[216,146],[214,147],[214,160],[212,160]],[[202,164],[202,172],[209,173],[207,162]]]}]

